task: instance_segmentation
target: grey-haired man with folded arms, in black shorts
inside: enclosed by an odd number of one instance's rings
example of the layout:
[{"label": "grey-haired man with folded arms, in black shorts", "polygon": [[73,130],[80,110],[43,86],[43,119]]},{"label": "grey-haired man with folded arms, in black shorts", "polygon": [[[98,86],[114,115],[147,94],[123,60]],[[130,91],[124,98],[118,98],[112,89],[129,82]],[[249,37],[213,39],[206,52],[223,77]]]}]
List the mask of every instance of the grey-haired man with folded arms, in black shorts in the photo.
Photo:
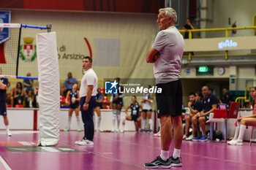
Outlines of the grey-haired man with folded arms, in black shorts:
[{"label": "grey-haired man with folded arms, in black shorts", "polygon": [[[161,123],[161,154],[146,168],[170,168],[182,166],[181,143],[183,127],[181,122],[182,85],[181,58],[184,51],[184,39],[175,27],[177,13],[173,8],[159,9],[157,23],[159,33],[154,44],[146,55],[147,63],[154,63],[154,77],[162,93],[156,93],[157,116]],[[172,141],[172,125],[174,133],[174,152],[169,158]]]}]

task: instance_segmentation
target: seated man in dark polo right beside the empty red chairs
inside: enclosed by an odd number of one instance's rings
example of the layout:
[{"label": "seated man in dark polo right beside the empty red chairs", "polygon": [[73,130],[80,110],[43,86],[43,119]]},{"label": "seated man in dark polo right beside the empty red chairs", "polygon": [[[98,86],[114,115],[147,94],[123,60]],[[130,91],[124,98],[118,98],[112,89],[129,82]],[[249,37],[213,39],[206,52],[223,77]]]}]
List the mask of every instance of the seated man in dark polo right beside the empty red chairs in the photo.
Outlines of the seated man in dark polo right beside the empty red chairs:
[{"label": "seated man in dark polo right beside the empty red chairs", "polygon": [[[209,120],[209,114],[214,112],[214,109],[217,109],[219,104],[219,100],[214,94],[209,92],[209,88],[207,85],[204,85],[202,88],[203,93],[203,110],[197,113],[198,122],[200,124],[200,128],[202,129],[202,136],[199,141],[206,141],[206,121]],[[194,122],[194,124],[197,122]]]}]

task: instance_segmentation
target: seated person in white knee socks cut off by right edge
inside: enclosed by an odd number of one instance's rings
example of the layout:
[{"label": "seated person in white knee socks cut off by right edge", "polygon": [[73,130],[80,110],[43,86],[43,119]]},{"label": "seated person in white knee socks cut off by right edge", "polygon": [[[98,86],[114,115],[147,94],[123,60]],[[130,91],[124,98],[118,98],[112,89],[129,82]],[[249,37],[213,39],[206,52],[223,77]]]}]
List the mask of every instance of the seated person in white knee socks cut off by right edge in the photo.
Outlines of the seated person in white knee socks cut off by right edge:
[{"label": "seated person in white knee socks cut off by right edge", "polygon": [[252,115],[245,116],[245,117],[239,117],[237,119],[237,125],[236,125],[236,131],[235,131],[235,136],[234,138],[227,142],[227,144],[231,145],[242,145],[243,144],[243,139],[244,139],[244,134],[246,131],[246,126],[248,125],[256,125],[256,87],[251,88],[252,93],[250,95],[254,99],[254,107],[252,109]]}]

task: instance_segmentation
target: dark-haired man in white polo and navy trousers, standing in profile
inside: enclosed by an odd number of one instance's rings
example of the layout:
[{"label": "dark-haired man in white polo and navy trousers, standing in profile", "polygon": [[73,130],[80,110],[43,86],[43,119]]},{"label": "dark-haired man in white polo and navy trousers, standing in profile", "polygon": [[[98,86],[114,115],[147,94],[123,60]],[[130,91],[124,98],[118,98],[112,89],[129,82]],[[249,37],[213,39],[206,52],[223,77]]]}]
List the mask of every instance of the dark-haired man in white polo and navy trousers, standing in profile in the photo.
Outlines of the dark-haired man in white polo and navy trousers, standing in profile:
[{"label": "dark-haired man in white polo and navy trousers, standing in profile", "polygon": [[84,136],[75,144],[93,145],[94,139],[94,118],[93,112],[96,105],[97,95],[97,74],[91,69],[92,59],[89,56],[83,58],[83,78],[80,85],[80,111],[82,113]]}]

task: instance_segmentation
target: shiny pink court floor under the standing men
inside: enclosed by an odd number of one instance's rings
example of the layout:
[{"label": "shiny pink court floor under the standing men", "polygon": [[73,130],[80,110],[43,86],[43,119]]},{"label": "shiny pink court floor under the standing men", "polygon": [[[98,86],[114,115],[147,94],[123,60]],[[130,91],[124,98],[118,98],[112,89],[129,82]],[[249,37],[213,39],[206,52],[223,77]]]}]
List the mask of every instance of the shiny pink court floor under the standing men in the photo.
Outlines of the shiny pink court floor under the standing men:
[{"label": "shiny pink court floor under the standing men", "polygon": [[[37,131],[12,131],[10,137],[0,131],[0,169],[145,169],[143,163],[153,161],[160,152],[160,139],[152,134],[96,132],[93,147],[75,145],[82,136],[83,132],[61,131],[57,147],[36,147]],[[256,144],[183,142],[181,158],[183,166],[171,169],[255,170]]]}]

